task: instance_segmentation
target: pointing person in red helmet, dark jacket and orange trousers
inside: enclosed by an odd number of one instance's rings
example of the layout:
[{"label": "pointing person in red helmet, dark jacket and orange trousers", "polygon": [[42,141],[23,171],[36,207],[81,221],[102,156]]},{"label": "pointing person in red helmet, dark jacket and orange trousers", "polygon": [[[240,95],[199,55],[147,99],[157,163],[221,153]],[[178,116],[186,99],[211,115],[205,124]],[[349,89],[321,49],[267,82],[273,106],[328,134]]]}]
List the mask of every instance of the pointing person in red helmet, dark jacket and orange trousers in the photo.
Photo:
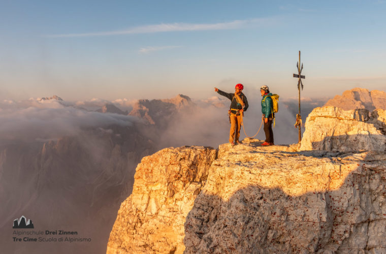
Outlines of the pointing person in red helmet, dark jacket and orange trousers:
[{"label": "pointing person in red helmet, dark jacket and orange trousers", "polygon": [[242,115],[248,108],[248,101],[244,93],[241,90],[244,89],[242,84],[235,86],[235,93],[228,93],[221,91],[214,87],[214,90],[221,96],[227,97],[231,100],[231,107],[229,110],[229,120],[231,122],[231,131],[229,133],[229,142],[231,145],[240,144],[240,127],[242,122]]}]

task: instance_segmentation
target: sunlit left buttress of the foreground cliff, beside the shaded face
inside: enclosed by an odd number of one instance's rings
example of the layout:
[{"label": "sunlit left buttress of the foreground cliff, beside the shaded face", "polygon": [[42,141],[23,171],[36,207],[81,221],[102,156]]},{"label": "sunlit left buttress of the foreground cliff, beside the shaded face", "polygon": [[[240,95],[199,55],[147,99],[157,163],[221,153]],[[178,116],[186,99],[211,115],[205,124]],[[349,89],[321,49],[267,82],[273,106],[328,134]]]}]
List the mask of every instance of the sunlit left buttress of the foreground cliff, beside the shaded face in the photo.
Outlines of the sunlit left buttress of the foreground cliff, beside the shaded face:
[{"label": "sunlit left buttress of the foreground cliff, beside the shaded face", "polygon": [[107,253],[182,253],[185,217],[215,156],[213,148],[180,147],[144,157],[132,195],[118,211]]}]

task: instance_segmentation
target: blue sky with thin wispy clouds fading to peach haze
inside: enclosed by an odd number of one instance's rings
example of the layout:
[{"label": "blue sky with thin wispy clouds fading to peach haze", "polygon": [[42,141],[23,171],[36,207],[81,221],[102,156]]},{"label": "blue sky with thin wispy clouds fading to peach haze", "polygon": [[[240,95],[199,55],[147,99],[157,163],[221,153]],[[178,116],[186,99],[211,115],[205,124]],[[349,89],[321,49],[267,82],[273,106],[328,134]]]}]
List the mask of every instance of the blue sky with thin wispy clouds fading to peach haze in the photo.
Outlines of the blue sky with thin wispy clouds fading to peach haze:
[{"label": "blue sky with thin wispy clouds fading to peach haze", "polygon": [[0,99],[384,90],[386,1],[0,0]]}]

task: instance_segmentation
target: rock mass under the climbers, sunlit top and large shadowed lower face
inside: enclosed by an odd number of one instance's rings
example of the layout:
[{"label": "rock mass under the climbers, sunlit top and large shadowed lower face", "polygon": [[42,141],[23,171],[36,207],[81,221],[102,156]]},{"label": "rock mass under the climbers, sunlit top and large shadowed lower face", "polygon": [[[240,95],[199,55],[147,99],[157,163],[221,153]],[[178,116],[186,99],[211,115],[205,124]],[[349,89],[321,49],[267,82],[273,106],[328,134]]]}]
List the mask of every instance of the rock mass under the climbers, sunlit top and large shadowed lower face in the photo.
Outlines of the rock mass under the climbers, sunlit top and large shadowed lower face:
[{"label": "rock mass under the climbers, sunlit top and large shadowed lower face", "polygon": [[259,144],[219,147],[186,217],[185,253],[386,251],[386,154]]}]

